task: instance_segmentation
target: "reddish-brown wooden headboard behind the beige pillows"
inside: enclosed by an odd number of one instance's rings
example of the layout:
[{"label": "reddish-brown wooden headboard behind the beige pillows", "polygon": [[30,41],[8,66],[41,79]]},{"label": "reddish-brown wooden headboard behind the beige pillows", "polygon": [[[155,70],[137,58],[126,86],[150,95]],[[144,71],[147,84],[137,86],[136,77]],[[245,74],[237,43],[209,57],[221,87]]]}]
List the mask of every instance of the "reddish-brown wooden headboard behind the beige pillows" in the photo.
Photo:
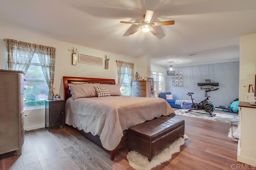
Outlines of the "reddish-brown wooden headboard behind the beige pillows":
[{"label": "reddish-brown wooden headboard behind the beige pillows", "polygon": [[100,84],[116,84],[115,79],[107,78],[88,78],[88,77],[63,77],[64,90],[65,90],[65,101],[71,97],[68,83],[71,84],[83,84],[83,83],[100,83]]}]

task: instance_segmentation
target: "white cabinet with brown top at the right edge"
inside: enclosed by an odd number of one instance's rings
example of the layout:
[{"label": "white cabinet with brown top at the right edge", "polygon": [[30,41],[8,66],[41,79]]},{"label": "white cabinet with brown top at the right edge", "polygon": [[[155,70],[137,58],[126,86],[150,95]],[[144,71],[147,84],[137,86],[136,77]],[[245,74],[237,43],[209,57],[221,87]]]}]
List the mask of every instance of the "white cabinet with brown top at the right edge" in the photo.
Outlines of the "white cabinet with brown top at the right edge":
[{"label": "white cabinet with brown top at the right edge", "polygon": [[239,102],[240,139],[238,141],[237,161],[256,165],[256,106]]}]

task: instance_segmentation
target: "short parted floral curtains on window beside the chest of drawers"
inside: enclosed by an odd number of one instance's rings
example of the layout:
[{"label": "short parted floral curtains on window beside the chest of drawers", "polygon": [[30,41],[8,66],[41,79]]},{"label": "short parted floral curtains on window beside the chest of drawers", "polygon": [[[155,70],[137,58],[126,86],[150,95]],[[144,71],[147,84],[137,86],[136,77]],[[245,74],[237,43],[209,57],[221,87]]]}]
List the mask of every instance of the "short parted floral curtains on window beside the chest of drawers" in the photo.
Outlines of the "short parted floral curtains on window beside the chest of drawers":
[{"label": "short parted floral curtains on window beside the chest of drawers", "polygon": [[130,86],[131,86],[131,81],[134,76],[134,63],[128,63],[124,61],[116,61],[117,65],[117,82],[119,86],[121,87],[123,82],[124,82],[124,75],[128,74],[128,78],[130,81]]}]

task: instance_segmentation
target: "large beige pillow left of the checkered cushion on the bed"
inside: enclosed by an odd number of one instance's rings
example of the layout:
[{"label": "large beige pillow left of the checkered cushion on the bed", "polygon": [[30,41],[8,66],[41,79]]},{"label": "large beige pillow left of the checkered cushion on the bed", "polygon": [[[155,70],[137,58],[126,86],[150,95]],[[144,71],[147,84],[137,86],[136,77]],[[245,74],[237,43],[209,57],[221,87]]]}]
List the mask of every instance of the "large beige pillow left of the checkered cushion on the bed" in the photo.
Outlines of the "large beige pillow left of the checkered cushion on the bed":
[{"label": "large beige pillow left of the checkered cushion on the bed", "polygon": [[71,89],[73,100],[77,98],[91,98],[97,97],[98,94],[94,86],[100,85],[99,83],[86,83],[86,84],[68,84]]}]

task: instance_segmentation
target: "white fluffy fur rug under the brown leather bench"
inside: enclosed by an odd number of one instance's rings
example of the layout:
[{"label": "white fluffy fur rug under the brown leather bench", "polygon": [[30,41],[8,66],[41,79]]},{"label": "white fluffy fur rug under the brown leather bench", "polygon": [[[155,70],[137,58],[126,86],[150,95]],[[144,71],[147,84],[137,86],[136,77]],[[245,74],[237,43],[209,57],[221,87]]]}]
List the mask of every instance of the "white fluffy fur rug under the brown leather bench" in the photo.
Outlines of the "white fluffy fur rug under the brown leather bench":
[{"label": "white fluffy fur rug under the brown leather bench", "polygon": [[130,151],[127,154],[127,160],[132,166],[132,168],[136,170],[151,170],[152,168],[170,160],[172,158],[172,154],[176,152],[180,152],[180,146],[185,143],[185,139],[188,139],[187,135],[184,135],[184,138],[179,138],[177,141],[172,143],[170,147],[166,148],[160,154],[156,155],[152,160],[149,162],[146,156],[139,154],[138,152]]}]

